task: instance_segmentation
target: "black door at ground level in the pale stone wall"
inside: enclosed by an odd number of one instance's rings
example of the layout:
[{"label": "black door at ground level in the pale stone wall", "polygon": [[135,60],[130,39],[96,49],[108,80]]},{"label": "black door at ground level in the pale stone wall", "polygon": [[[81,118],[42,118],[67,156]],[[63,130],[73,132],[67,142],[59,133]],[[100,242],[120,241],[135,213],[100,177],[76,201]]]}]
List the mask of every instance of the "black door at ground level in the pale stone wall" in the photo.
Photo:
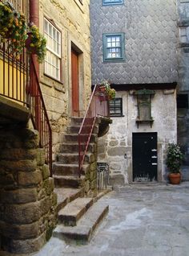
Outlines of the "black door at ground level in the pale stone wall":
[{"label": "black door at ground level in the pale stone wall", "polygon": [[133,133],[133,181],[157,180],[157,133]]}]

